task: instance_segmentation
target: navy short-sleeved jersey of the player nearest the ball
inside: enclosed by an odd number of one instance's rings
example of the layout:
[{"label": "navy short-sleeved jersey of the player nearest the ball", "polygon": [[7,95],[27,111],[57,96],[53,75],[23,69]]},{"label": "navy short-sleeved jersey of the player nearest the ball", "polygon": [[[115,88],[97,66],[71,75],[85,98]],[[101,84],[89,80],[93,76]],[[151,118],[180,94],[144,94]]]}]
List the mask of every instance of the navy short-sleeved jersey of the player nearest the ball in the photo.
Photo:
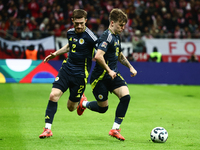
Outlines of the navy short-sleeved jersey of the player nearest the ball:
[{"label": "navy short-sleeved jersey of the player nearest the ball", "polygon": [[[119,35],[115,35],[109,29],[107,29],[98,40],[98,49],[105,52],[104,59],[110,69],[118,72],[118,55],[121,52],[121,40]],[[108,73],[106,73],[106,70],[96,63],[92,72],[91,82],[93,82],[95,79],[102,80],[110,78],[111,77],[108,75]]]}]

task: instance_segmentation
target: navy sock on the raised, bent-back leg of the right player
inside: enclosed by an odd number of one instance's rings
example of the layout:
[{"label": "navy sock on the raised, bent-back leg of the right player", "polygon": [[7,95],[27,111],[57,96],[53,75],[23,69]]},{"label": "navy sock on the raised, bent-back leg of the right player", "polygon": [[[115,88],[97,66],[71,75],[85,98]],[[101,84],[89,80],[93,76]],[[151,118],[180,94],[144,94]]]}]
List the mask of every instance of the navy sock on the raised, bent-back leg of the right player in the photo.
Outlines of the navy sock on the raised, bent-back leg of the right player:
[{"label": "navy sock on the raised, bent-back leg of the right player", "polygon": [[92,111],[96,111],[96,112],[99,112],[99,113],[105,113],[108,110],[108,106],[106,106],[106,107],[100,107],[97,104],[97,101],[88,102],[86,104],[86,107],[88,109],[92,110]]}]

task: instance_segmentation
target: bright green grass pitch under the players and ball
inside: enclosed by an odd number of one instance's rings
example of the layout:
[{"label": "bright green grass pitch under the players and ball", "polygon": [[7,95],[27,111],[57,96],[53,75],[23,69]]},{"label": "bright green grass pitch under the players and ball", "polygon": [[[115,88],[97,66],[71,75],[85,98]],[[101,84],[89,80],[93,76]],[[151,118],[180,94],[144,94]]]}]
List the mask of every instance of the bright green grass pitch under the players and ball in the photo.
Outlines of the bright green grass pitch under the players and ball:
[{"label": "bright green grass pitch under the players and ball", "polygon": [[[1,150],[197,150],[200,149],[200,86],[129,84],[131,102],[121,125],[125,141],[108,136],[118,99],[109,95],[105,114],[69,112],[67,91],[58,102],[53,137],[39,139],[51,84],[0,84]],[[90,85],[85,95],[94,100]],[[164,127],[166,143],[150,131]]]}]

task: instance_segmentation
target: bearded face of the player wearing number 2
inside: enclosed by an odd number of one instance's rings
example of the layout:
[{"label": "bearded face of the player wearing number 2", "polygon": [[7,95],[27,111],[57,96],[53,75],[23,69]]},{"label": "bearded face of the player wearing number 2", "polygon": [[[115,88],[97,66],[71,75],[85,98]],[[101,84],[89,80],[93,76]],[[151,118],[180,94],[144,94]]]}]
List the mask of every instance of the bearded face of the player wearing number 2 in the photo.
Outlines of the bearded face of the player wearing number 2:
[{"label": "bearded face of the player wearing number 2", "polygon": [[85,18],[79,18],[79,19],[72,20],[76,33],[84,32],[86,21],[87,21],[87,19],[85,19]]}]

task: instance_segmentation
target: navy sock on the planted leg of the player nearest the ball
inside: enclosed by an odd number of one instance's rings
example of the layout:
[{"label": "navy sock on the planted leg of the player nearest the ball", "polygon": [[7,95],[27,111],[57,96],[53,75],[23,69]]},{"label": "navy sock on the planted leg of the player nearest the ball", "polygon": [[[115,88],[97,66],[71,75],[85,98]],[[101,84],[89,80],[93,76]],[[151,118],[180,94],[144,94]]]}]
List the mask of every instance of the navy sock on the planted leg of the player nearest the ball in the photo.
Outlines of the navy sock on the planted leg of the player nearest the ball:
[{"label": "navy sock on the planted leg of the player nearest the ball", "polygon": [[115,113],[116,123],[118,124],[122,123],[125,117],[126,111],[128,109],[129,102],[130,102],[130,95],[126,95],[120,99],[120,102],[117,106],[116,113]]}]

